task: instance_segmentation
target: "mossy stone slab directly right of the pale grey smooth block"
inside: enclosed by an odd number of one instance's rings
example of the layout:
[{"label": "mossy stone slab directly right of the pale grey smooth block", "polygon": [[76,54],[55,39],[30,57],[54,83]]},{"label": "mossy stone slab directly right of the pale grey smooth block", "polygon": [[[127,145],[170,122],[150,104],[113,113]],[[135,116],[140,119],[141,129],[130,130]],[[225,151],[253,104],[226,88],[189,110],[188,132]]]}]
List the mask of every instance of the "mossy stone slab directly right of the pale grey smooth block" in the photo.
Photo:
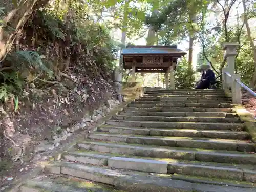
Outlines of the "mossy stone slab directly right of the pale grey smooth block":
[{"label": "mossy stone slab directly right of the pale grey smooth block", "polygon": [[168,173],[185,174],[200,177],[220,178],[243,180],[243,172],[241,169],[232,167],[207,166],[187,163],[169,163],[167,167]]}]

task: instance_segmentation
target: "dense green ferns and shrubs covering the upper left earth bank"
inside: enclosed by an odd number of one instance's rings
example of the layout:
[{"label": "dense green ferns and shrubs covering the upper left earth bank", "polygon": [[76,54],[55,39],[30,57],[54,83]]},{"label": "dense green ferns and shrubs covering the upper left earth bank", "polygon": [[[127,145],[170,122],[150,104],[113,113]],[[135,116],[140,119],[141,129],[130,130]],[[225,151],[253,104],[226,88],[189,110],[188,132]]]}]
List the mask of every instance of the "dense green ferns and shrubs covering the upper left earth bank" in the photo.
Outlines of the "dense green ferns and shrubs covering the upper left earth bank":
[{"label": "dense green ferns and shrubs covering the upper left earth bank", "polygon": [[19,50],[13,49],[3,61],[0,101],[18,102],[25,84],[60,81],[62,71],[105,79],[113,70],[120,45],[111,39],[108,26],[95,22],[82,7],[76,3],[59,12],[46,7],[32,14]]}]

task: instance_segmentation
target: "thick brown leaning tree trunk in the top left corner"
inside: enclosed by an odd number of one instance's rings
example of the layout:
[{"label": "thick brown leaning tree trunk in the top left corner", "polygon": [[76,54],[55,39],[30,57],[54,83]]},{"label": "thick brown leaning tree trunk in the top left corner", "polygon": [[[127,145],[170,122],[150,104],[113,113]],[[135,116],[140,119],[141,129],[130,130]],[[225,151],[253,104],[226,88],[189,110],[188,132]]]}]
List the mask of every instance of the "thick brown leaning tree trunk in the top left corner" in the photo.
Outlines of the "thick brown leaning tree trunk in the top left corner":
[{"label": "thick brown leaning tree trunk in the top left corner", "polygon": [[4,24],[0,26],[0,62],[11,50],[17,32],[23,29],[33,10],[47,3],[48,0],[21,0],[16,6],[13,5],[12,0],[0,3],[1,7],[6,8],[6,15],[3,18]]}]

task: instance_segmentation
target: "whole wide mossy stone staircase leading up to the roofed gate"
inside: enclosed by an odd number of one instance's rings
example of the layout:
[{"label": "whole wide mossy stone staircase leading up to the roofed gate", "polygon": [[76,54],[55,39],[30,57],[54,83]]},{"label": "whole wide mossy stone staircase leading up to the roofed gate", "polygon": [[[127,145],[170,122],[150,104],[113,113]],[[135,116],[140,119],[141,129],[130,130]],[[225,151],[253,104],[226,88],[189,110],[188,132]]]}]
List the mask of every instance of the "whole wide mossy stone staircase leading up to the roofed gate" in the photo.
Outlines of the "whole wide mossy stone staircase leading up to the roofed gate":
[{"label": "whole wide mossy stone staircase leading up to the roofed gate", "polygon": [[256,147],[232,108],[221,90],[148,91],[46,170],[133,192],[255,192]]}]

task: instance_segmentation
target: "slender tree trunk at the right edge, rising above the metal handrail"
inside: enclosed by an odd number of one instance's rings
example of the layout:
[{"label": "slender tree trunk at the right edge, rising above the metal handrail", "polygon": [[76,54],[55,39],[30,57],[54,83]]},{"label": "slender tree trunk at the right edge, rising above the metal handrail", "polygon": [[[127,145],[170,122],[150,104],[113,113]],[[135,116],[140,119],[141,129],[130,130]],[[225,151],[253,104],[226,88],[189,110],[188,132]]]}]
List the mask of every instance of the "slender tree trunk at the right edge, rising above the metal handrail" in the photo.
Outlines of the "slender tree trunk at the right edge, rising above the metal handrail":
[{"label": "slender tree trunk at the right edge, rising above the metal handrail", "polygon": [[253,73],[253,76],[252,76],[252,79],[250,82],[250,86],[254,88],[256,86],[256,48],[254,46],[253,39],[251,38],[251,30],[250,30],[250,27],[248,24],[247,8],[246,8],[245,0],[243,0],[243,7],[244,7],[244,23],[245,23],[246,30],[247,30],[247,38],[250,41],[251,48],[253,51],[254,73]]}]

